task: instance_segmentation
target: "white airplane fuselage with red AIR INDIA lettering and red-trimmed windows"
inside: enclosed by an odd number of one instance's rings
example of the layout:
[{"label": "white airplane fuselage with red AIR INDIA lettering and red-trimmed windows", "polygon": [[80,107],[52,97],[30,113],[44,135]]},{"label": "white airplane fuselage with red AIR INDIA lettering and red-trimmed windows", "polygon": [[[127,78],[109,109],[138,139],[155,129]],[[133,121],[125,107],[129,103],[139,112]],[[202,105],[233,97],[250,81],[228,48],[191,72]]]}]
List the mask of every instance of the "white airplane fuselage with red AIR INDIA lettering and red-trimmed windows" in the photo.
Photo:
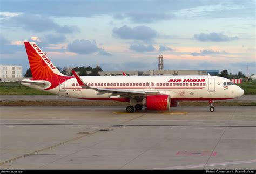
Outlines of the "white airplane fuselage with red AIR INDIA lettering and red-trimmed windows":
[{"label": "white airplane fuselage with red AIR INDIA lettering and red-trimmed windows", "polygon": [[[123,89],[132,91],[159,92],[172,100],[223,100],[244,94],[230,80],[217,76],[81,76],[86,85],[93,88]],[[226,84],[224,84],[226,82]],[[227,85],[229,82],[230,85]],[[22,83],[25,86],[45,90],[48,86]],[[120,96],[98,92],[79,86],[76,78],[61,81],[59,86],[45,90],[56,95],[91,100],[114,100]]]}]

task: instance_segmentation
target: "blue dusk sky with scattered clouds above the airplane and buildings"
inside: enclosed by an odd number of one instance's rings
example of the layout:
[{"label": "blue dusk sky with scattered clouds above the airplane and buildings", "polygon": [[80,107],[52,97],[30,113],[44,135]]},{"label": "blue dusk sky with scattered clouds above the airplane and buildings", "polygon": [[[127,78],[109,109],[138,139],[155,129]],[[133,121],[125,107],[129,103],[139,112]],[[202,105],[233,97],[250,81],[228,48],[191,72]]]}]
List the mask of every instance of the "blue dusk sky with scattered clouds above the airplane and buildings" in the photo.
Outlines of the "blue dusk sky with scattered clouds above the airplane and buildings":
[{"label": "blue dusk sky with scattered clouds above the airplane and buildings", "polygon": [[0,64],[29,68],[24,41],[58,67],[227,69],[255,74],[255,1],[1,0]]}]

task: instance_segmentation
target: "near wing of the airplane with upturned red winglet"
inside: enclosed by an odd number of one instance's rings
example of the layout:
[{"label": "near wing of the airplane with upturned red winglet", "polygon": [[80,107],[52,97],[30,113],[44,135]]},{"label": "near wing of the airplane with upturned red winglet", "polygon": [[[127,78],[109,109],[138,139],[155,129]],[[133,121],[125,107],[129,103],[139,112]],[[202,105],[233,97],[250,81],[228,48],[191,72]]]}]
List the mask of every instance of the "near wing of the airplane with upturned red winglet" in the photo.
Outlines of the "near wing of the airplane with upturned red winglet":
[{"label": "near wing of the airplane with upturned red winglet", "polygon": [[72,71],[73,75],[76,77],[79,86],[86,89],[94,89],[100,93],[112,93],[112,96],[120,95],[121,97],[134,97],[139,96],[143,97],[146,95],[156,95],[159,92],[147,92],[147,91],[134,91],[134,90],[122,90],[122,89],[106,89],[106,88],[92,88],[84,83],[83,79],[80,78],[75,71]]}]

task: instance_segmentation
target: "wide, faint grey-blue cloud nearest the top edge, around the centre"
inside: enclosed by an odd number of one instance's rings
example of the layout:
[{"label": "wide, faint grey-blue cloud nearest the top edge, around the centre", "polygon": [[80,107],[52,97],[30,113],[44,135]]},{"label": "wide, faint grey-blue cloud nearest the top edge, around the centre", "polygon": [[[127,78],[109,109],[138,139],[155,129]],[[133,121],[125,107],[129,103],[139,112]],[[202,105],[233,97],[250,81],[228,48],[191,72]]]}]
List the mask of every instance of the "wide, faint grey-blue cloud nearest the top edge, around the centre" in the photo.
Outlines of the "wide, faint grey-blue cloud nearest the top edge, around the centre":
[{"label": "wide, faint grey-blue cloud nearest the top edge, around the centre", "polygon": [[174,15],[164,12],[133,11],[126,14],[114,14],[113,17],[118,20],[128,18],[133,23],[153,23],[160,20],[170,20],[174,18]]}]

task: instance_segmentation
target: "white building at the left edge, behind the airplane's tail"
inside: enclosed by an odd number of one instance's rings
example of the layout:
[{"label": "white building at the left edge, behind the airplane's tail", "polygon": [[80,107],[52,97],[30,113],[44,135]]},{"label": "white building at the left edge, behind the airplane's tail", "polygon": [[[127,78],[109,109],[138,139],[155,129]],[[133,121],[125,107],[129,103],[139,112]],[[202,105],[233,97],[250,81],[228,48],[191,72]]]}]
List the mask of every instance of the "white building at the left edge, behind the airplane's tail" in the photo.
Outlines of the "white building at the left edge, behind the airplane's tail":
[{"label": "white building at the left edge, behind the airplane's tail", "polygon": [[0,64],[0,78],[2,81],[22,78],[22,66]]}]

